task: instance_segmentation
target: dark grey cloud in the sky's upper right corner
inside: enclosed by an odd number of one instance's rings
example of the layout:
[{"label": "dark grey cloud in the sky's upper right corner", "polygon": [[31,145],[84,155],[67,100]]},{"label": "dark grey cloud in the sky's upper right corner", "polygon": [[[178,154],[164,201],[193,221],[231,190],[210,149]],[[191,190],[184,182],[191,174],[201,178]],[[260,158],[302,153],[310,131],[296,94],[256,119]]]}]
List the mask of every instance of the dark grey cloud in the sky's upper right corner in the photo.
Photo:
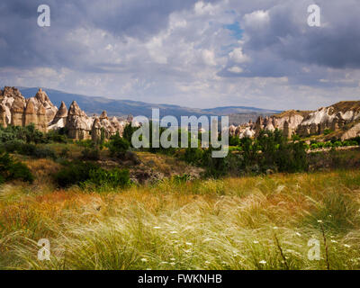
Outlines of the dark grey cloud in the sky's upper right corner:
[{"label": "dark grey cloud in the sky's upper right corner", "polygon": [[[283,60],[324,67],[360,67],[358,3],[353,0],[317,1],[321,9],[319,28],[307,24],[309,4],[313,4],[312,1],[287,1],[269,9],[266,25],[261,28],[246,25],[248,40],[244,49],[271,51]],[[268,58],[268,61],[273,59]]]}]

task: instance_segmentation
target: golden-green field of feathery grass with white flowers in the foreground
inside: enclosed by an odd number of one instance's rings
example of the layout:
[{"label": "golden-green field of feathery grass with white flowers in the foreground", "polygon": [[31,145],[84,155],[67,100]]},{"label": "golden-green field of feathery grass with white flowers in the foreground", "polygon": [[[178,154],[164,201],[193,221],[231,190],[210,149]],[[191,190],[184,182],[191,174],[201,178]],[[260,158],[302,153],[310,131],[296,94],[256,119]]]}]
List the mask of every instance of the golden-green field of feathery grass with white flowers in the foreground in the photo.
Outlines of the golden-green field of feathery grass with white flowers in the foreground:
[{"label": "golden-green field of feathery grass with white flowers in the foreground", "polygon": [[[359,269],[360,171],[0,192],[1,269]],[[49,238],[50,260],[37,258]],[[308,257],[309,240],[320,260]]]}]

